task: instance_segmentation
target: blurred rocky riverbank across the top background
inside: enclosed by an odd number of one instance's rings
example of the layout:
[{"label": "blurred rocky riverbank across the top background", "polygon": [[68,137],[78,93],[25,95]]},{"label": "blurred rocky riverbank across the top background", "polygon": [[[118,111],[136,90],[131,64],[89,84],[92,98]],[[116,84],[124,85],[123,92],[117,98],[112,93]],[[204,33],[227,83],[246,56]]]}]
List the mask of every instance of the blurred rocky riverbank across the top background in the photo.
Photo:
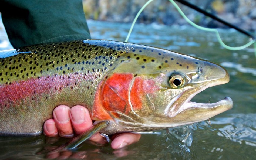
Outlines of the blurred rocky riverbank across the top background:
[{"label": "blurred rocky riverbank across the top background", "polygon": [[[87,19],[130,23],[147,1],[83,0],[83,7]],[[256,31],[255,0],[191,0],[189,2],[242,29],[252,32]],[[191,21],[200,26],[228,28],[183,4],[178,2],[177,4]],[[187,22],[168,0],[155,0],[151,2],[141,13],[137,22],[187,25]]]}]

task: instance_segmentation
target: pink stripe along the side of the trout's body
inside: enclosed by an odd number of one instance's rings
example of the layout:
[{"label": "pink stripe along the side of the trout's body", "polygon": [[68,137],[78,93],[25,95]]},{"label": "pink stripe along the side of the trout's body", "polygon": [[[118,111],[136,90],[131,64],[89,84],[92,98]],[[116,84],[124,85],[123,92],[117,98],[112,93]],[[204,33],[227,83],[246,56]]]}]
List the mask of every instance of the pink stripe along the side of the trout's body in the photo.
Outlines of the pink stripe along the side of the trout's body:
[{"label": "pink stripe along the side of the trout's body", "polygon": [[0,85],[0,108],[10,107],[19,100],[32,97],[34,94],[47,93],[51,89],[59,92],[63,88],[77,85],[82,80],[92,80],[92,74],[72,73],[69,75],[42,76]]}]

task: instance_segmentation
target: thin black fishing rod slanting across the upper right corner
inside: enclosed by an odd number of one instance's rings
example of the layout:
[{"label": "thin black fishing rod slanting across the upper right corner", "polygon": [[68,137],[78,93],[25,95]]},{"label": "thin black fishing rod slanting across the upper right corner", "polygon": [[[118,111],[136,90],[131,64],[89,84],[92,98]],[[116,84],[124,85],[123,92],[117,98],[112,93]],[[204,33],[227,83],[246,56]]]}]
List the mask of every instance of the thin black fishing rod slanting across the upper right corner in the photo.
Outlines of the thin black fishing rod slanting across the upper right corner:
[{"label": "thin black fishing rod slanting across the upper right corner", "polygon": [[229,26],[230,28],[234,28],[238,32],[241,32],[241,33],[251,37],[253,40],[256,39],[256,37],[254,35],[252,35],[250,32],[248,32],[248,31],[246,31],[244,29],[241,29],[241,28],[239,28],[239,27],[237,27],[235,25],[232,25],[231,23],[228,23],[228,22],[224,21],[223,19],[218,18],[217,16],[215,16],[215,15],[213,15],[213,14],[211,14],[211,13],[209,13],[209,12],[207,12],[207,11],[201,9],[201,8],[199,8],[198,6],[196,6],[194,4],[191,4],[190,2],[187,2],[187,1],[184,1],[184,0],[175,0],[175,1],[178,1],[181,4],[184,4],[184,5],[188,6],[189,8],[192,8],[192,9],[194,9],[194,10],[200,12],[200,13],[203,13],[204,15],[206,15],[208,17],[211,17],[212,19],[214,19],[214,20],[216,20],[216,21],[218,21],[220,23],[223,23],[224,25]]}]

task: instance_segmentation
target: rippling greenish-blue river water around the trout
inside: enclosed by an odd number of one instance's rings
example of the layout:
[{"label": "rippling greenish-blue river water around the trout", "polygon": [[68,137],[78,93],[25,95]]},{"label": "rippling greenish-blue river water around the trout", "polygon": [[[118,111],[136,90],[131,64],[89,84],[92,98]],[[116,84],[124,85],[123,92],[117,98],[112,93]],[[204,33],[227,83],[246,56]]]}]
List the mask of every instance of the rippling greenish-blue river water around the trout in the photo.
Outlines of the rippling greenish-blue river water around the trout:
[{"label": "rippling greenish-blue river water around the trout", "polygon": [[[130,24],[88,21],[93,39],[124,41]],[[234,30],[220,30],[227,45],[240,46],[248,38]],[[140,141],[120,150],[109,144],[95,146],[86,142],[74,152],[58,155],[38,154],[68,141],[65,138],[0,137],[0,159],[176,159],[211,160],[256,159],[256,58],[254,50],[223,49],[214,34],[187,26],[137,24],[129,39],[197,56],[222,64],[230,73],[230,82],[208,88],[192,101],[205,103],[229,96],[234,107],[210,119],[187,127],[161,131],[161,135],[142,135]],[[0,25],[0,50],[12,48]],[[210,98],[211,97],[211,98]],[[193,139],[193,141],[192,141]]]}]

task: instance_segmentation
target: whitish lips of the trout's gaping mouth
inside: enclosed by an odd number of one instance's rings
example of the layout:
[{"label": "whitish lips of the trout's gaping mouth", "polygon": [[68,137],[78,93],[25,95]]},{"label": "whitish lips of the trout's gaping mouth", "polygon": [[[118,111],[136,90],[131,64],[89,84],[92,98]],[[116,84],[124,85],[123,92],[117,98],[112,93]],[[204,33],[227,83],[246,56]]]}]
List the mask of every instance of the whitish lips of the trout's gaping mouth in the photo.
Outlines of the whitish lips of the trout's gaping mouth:
[{"label": "whitish lips of the trout's gaping mouth", "polygon": [[180,114],[184,111],[188,111],[188,110],[200,109],[202,111],[202,109],[203,109],[204,110],[203,112],[211,112],[210,111],[211,109],[218,108],[217,112],[216,112],[216,110],[214,110],[214,112],[212,112],[210,114],[207,113],[206,117],[204,117],[202,115],[202,120],[203,119],[205,120],[205,119],[211,118],[217,114],[220,114],[224,111],[230,110],[233,107],[233,101],[230,97],[225,97],[223,100],[220,100],[215,103],[197,103],[197,102],[190,101],[196,94],[200,93],[201,91],[205,90],[208,87],[212,87],[212,86],[216,86],[216,85],[218,85],[218,84],[211,83],[204,87],[201,87],[200,89],[192,88],[192,89],[182,92],[178,96],[174,97],[170,101],[170,103],[167,105],[167,107],[164,111],[165,115],[170,118],[173,118],[173,117],[177,116],[178,114]]}]

